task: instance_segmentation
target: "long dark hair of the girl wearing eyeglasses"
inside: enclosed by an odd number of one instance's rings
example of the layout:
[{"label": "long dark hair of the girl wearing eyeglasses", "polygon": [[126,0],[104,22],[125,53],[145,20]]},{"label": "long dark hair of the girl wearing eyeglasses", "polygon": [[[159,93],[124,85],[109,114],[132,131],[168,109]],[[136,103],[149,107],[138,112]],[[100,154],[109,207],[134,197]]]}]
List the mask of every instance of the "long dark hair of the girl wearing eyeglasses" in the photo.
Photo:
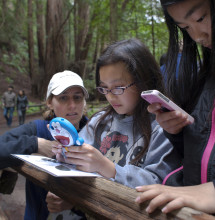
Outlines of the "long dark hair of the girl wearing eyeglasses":
[{"label": "long dark hair of the girl wearing eyeglasses", "polygon": [[[163,92],[162,75],[155,58],[143,43],[134,38],[115,42],[103,51],[102,55],[97,60],[96,86],[99,86],[100,84],[100,68],[119,62],[123,62],[128,72],[132,75],[133,81],[135,82],[134,86],[136,86],[139,94],[144,90],[151,89],[157,89]],[[143,150],[133,161],[131,161],[133,164],[136,164],[143,157],[143,154],[148,149],[151,138],[151,115],[147,111],[147,106],[148,103],[140,97],[139,103],[133,114],[133,133],[135,134],[135,132],[141,131],[145,145]],[[100,118],[96,125],[96,134],[98,125],[107,118],[107,116],[113,116],[115,113],[115,110],[111,105],[103,110],[105,110],[105,114]],[[112,119],[113,117],[110,117],[110,120]],[[96,140],[98,139],[99,137],[96,137]]]}]

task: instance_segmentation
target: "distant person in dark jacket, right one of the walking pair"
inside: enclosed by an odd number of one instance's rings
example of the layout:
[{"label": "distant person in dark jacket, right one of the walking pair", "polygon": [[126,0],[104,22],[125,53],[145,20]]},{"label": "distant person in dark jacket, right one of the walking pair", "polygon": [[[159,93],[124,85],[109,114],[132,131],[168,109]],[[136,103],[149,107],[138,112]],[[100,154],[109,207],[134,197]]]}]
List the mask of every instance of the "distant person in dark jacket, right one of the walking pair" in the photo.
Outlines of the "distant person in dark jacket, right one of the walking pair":
[{"label": "distant person in dark jacket, right one of the walking pair", "polygon": [[25,123],[25,114],[26,109],[28,108],[28,98],[25,95],[24,90],[19,90],[16,105],[19,116],[19,125],[22,125]]}]

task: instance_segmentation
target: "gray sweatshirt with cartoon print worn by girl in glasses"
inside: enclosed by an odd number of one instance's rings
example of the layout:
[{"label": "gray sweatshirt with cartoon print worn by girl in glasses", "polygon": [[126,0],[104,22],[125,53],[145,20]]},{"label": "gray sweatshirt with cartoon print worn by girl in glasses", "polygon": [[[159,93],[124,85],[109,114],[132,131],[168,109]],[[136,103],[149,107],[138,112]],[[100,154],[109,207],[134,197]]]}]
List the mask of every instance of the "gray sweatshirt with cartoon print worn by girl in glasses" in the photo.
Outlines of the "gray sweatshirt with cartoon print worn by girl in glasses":
[{"label": "gray sweatshirt with cartoon print worn by girl in glasses", "polygon": [[170,172],[180,166],[180,157],[155,120],[151,122],[152,134],[148,150],[136,165],[131,165],[130,162],[144,147],[142,134],[133,134],[133,116],[115,114],[112,120],[103,120],[99,124],[98,134],[95,134],[95,125],[102,114],[104,112],[96,114],[79,136],[114,162],[116,176],[113,181],[131,188],[160,184]]}]

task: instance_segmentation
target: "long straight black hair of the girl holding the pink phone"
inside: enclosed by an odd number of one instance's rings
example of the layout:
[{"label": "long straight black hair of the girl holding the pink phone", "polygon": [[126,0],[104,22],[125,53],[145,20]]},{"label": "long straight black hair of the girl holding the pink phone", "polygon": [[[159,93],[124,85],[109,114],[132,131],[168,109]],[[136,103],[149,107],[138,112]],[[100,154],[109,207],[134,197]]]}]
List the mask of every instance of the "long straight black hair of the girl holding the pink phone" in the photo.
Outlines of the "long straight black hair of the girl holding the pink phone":
[{"label": "long straight black hair of the girl holding the pink phone", "polygon": [[[169,46],[167,52],[167,93],[186,111],[191,112],[202,91],[206,77],[215,71],[215,8],[210,1],[212,23],[212,50],[202,47],[202,59],[197,44],[189,34],[178,27],[167,12],[167,7],[186,0],[160,0],[169,29]],[[176,78],[177,55],[179,52],[179,31],[183,36],[183,51]]]}]

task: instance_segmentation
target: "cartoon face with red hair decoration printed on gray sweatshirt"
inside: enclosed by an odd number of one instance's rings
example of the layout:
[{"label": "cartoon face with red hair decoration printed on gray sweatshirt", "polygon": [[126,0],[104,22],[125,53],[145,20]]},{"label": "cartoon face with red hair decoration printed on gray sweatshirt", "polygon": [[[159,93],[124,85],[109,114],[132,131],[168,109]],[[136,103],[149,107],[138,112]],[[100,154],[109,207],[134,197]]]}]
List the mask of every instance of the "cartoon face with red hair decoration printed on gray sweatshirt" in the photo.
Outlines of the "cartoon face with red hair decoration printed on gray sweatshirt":
[{"label": "cartoon face with red hair decoration printed on gray sweatshirt", "polygon": [[128,136],[117,131],[107,133],[103,138],[100,151],[112,162],[124,166],[126,163]]}]

